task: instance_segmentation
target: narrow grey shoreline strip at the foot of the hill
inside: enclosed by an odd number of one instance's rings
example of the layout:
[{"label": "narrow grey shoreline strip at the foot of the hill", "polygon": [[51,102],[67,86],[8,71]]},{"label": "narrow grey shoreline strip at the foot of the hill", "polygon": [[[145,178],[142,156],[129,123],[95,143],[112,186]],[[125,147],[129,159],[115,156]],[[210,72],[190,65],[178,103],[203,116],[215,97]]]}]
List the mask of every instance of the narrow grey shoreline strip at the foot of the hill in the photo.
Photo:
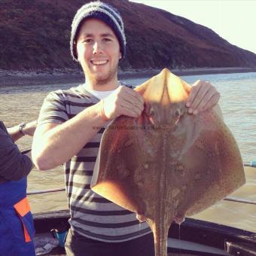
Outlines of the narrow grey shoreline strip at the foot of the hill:
[{"label": "narrow grey shoreline strip at the foot of the hill", "polygon": [[[161,69],[144,69],[130,70],[127,72],[119,71],[118,78],[151,78],[157,75]],[[256,72],[255,68],[195,68],[195,69],[172,69],[173,74],[182,75],[216,75],[230,73],[246,73]],[[54,70],[54,71],[12,71],[0,69],[0,87],[6,86],[23,86],[36,84],[69,84],[69,83],[84,83],[84,74],[80,70]]]}]

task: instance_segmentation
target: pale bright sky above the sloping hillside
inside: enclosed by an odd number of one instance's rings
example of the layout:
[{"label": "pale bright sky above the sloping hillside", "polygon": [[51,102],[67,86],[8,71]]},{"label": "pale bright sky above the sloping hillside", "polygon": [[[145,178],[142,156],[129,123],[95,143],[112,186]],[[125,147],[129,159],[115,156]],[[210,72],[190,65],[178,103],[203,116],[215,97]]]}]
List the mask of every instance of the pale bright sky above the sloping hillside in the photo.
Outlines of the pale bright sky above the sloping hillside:
[{"label": "pale bright sky above the sloping hillside", "polygon": [[222,38],[256,53],[256,0],[132,0],[207,26]]}]

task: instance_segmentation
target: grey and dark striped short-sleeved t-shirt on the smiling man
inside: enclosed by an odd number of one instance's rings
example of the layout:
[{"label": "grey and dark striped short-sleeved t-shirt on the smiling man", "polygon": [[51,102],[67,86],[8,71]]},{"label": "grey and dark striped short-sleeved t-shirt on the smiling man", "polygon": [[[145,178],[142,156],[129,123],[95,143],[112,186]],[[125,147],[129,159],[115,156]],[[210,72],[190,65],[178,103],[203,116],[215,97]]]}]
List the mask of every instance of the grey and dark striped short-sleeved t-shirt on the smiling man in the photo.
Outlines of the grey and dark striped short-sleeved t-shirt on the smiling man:
[{"label": "grey and dark striped short-sleeved t-shirt on the smiling man", "polygon": [[[84,85],[49,93],[38,118],[42,123],[62,123],[99,102]],[[69,200],[72,230],[82,236],[104,242],[123,242],[150,233],[146,222],[139,223],[136,214],[117,206],[90,190],[93,168],[104,129],[64,164],[66,192]],[[86,133],[86,131],[85,131]],[[68,145],[67,145],[68,146]]]}]

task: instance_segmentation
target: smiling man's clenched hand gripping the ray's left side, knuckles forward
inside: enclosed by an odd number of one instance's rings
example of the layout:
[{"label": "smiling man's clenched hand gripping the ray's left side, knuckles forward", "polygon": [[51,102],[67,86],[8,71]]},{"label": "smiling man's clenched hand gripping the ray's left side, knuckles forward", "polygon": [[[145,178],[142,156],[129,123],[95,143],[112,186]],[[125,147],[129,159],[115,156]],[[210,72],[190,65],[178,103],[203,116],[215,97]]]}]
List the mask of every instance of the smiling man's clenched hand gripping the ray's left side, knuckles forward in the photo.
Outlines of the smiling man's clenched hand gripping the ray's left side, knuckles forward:
[{"label": "smiling man's clenched hand gripping the ray's left side, knuckles forward", "polygon": [[139,117],[144,109],[144,99],[135,90],[120,86],[104,99],[104,113],[109,120],[120,115]]}]

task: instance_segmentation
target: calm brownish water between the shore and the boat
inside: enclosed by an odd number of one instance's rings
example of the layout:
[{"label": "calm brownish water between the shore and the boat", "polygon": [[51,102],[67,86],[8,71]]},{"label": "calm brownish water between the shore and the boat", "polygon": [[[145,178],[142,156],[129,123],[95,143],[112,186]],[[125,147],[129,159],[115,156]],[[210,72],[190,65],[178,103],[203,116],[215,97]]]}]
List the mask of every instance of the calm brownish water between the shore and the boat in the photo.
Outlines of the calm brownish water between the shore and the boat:
[{"label": "calm brownish water between the shore and the boat", "polygon": [[[210,81],[221,93],[224,120],[238,142],[244,161],[256,160],[256,73],[227,75],[194,75],[182,77],[193,84],[198,79]],[[129,84],[142,84],[147,78],[124,80]],[[0,87],[0,120],[7,126],[34,120],[51,90],[68,89],[76,84],[50,84],[23,87]],[[18,144],[21,150],[31,147],[32,139],[25,137]],[[256,201],[256,168],[245,169],[247,182],[232,196]],[[29,190],[44,190],[64,186],[62,167],[44,172],[33,170],[29,175]],[[66,194],[30,196],[32,212],[66,209]],[[196,215],[208,221],[227,224],[256,232],[256,206],[221,201]]]}]

